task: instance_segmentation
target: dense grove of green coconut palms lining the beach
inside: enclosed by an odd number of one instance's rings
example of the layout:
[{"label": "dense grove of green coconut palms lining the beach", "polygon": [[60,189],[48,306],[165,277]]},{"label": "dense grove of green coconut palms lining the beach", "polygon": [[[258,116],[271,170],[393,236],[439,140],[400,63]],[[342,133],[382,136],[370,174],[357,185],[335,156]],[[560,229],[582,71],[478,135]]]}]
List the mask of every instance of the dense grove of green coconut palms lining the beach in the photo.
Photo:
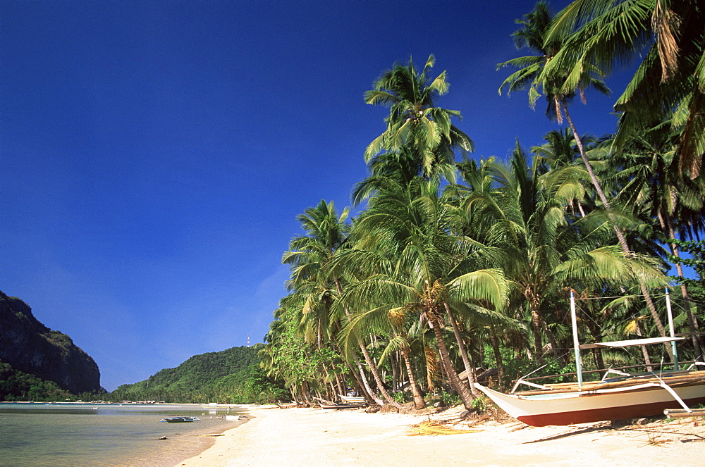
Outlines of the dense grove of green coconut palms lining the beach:
[{"label": "dense grove of green coconut palms lining the beach", "polygon": [[[581,342],[599,342],[666,335],[668,287],[687,335],[678,358],[702,360],[702,275],[679,278],[682,263],[702,273],[705,259],[705,6],[577,0],[552,15],[539,3],[517,25],[527,54],[499,64],[499,91],[545,99],[557,126],[538,146],[515,142],[508,160],[468,155],[433,56],[364,94],[389,113],[353,187],[359,212],[321,201],[298,216],[303,233],[283,254],[290,294],[259,351],[296,400],[354,390],[377,404],[458,397],[470,408],[485,369],[504,387],[570,373],[571,291]],[[609,92],[621,63],[638,68],[615,101],[618,127],[584,135],[570,104]],[[583,355],[588,370],[673,358],[667,346]]]}]

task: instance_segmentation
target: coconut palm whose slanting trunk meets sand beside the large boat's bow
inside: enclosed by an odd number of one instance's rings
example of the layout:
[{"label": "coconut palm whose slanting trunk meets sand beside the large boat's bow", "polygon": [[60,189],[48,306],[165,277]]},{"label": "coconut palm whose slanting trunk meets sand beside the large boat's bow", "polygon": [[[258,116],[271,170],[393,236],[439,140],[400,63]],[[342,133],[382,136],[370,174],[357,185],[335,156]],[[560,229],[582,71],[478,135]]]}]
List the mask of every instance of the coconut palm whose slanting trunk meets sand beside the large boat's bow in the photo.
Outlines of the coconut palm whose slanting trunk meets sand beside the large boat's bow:
[{"label": "coconut palm whose slanting trunk meets sand beside the large boat's bow", "polygon": [[453,304],[476,300],[501,308],[508,289],[501,271],[477,270],[467,261],[467,242],[450,234],[452,209],[438,185],[420,178],[372,198],[355,223],[355,248],[345,252],[360,279],[346,287],[341,304],[360,312],[384,307],[387,315],[411,314],[427,323],[450,385],[470,409],[472,393],[446,344],[446,316]]}]

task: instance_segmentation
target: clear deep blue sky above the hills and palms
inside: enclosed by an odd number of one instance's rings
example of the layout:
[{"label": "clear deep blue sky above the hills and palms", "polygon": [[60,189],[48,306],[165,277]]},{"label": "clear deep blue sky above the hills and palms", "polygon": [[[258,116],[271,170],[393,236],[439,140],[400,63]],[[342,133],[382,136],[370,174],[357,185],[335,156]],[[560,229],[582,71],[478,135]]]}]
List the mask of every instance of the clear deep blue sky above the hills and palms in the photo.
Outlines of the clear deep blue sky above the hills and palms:
[{"label": "clear deep blue sky above the hills and palms", "polygon": [[[0,290],[108,390],[262,342],[295,216],[350,204],[386,115],[362,95],[393,63],[436,55],[474,157],[556,128],[543,103],[497,94],[533,5],[0,2]],[[575,104],[580,132],[611,132],[613,101]]]}]

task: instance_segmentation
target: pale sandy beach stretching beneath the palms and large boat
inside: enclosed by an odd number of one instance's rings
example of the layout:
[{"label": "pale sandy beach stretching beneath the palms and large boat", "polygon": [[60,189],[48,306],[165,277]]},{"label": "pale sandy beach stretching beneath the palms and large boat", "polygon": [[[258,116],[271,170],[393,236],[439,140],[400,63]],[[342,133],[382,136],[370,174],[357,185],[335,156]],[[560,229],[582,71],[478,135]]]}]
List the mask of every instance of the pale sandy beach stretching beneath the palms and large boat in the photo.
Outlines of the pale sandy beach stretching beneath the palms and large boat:
[{"label": "pale sandy beach stretching beneath the palms and large boat", "polygon": [[[474,433],[410,436],[429,416],[359,410],[248,409],[251,421],[177,466],[702,466],[705,421],[534,428],[485,422]],[[432,419],[453,421],[448,411]],[[455,422],[458,422],[455,418]],[[468,428],[456,423],[455,428]]]}]

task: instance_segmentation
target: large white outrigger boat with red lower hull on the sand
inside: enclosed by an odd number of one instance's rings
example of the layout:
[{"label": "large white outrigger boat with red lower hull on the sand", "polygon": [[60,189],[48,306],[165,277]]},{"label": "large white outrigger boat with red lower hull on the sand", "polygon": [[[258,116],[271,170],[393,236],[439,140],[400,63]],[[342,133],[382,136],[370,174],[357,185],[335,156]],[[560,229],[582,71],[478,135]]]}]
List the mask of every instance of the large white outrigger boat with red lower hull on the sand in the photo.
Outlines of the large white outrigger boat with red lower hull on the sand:
[{"label": "large white outrigger boat with red lower hull on the sand", "polygon": [[[666,296],[668,298],[668,295]],[[675,354],[675,337],[670,302],[667,301],[671,337],[655,337],[630,341],[599,342],[583,344],[577,340],[575,296],[570,294],[573,342],[577,366],[577,383],[538,385],[527,380],[517,380],[511,394],[503,394],[476,384],[495,404],[510,416],[527,425],[572,425],[597,421],[620,420],[654,416],[664,411],[678,409],[682,413],[693,413],[689,406],[705,403],[705,371],[679,371]],[[617,378],[583,382],[580,349],[596,347],[628,347],[650,344],[673,345],[674,371],[649,372],[630,375],[620,371]],[[699,362],[698,362],[699,363]],[[534,390],[516,392],[521,384],[535,387]]]}]

